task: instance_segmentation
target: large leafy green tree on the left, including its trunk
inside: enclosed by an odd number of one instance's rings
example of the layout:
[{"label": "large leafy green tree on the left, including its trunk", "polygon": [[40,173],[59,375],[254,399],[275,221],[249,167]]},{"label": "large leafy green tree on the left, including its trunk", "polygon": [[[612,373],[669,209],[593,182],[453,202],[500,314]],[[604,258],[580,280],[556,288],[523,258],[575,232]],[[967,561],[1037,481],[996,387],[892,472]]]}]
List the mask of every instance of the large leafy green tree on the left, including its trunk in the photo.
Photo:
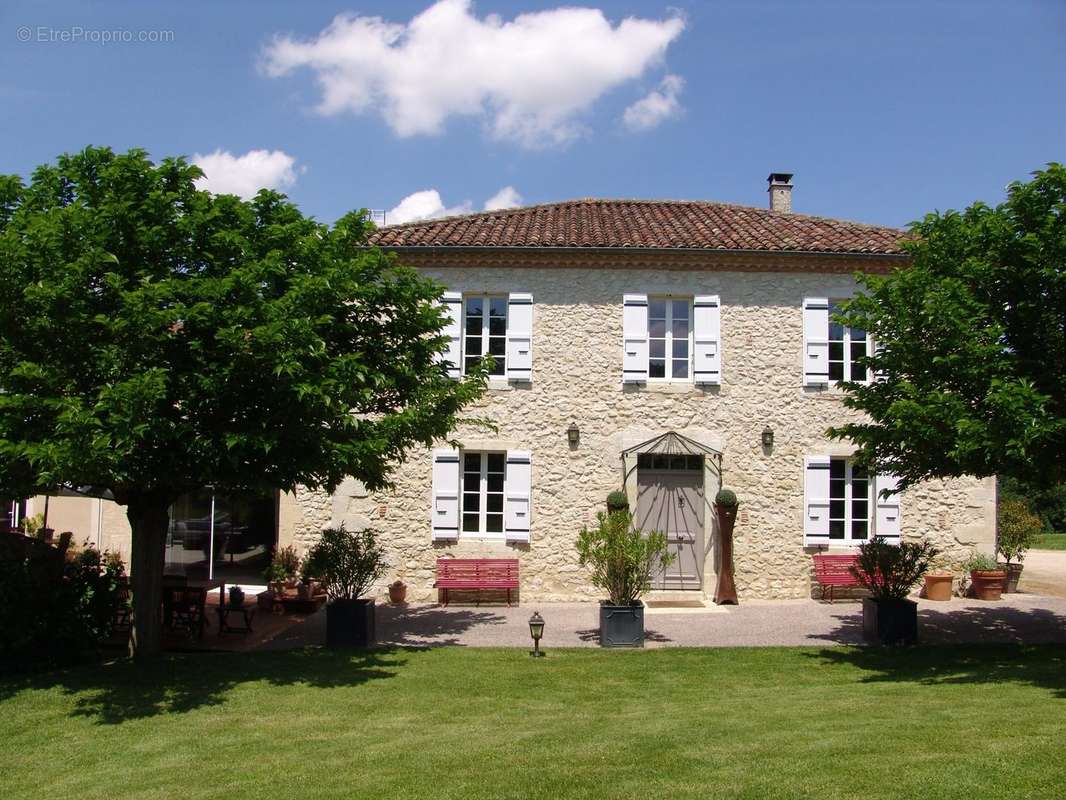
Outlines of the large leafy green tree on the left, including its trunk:
[{"label": "large leafy green tree on the left, including its trunk", "polygon": [[133,532],[131,652],[159,651],[168,508],[389,483],[484,388],[448,378],[442,287],[282,195],[87,148],[0,178],[0,496],[108,490]]}]

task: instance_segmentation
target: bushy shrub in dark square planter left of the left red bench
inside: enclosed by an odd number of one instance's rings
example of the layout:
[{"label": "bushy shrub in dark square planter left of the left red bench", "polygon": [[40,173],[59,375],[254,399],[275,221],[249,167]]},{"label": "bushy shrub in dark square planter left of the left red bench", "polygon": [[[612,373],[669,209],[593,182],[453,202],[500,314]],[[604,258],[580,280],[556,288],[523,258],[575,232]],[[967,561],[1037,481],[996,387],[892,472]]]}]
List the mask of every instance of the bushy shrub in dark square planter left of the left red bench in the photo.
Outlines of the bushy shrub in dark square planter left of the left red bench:
[{"label": "bushy shrub in dark square planter left of the left red bench", "polygon": [[365,647],[374,641],[374,601],[365,598],[385,573],[385,551],[371,530],[326,528],[307,554],[304,574],[318,580],[326,604],[326,646]]}]

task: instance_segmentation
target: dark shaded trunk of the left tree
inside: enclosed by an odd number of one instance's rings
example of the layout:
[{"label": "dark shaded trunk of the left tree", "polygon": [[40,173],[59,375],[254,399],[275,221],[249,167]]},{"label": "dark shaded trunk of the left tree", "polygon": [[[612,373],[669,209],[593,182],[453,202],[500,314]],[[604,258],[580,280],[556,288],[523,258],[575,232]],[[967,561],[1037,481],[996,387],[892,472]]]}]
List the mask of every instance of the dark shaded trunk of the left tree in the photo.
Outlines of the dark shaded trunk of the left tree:
[{"label": "dark shaded trunk of the left tree", "polygon": [[154,495],[131,498],[126,517],[133,531],[130,558],[133,614],[129,652],[133,658],[151,658],[163,649],[160,605],[163,599],[166,530],[171,524],[169,502]]}]

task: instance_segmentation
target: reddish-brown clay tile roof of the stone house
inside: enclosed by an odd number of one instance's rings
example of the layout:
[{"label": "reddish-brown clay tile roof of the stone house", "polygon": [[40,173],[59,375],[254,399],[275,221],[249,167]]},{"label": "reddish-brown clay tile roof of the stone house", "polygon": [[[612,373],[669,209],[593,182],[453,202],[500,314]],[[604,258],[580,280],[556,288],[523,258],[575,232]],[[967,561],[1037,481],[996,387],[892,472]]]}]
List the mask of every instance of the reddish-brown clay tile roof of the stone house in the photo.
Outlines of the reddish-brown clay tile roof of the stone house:
[{"label": "reddish-brown clay tile roof of the stone house", "polygon": [[382,247],[646,247],[899,255],[899,228],[700,201],[585,198],[379,228]]}]

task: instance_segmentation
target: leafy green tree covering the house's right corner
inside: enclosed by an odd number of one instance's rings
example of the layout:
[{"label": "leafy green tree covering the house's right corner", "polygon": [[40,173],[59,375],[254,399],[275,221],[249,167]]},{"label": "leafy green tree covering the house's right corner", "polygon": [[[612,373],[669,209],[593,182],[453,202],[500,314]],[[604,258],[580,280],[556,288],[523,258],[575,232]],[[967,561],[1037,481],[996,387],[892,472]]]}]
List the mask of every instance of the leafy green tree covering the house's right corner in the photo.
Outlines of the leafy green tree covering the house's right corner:
[{"label": "leafy green tree covering the house's right corner", "polygon": [[991,208],[912,226],[910,265],[865,275],[838,321],[869,331],[876,379],[845,384],[868,421],[830,433],[901,477],[1066,479],[1066,170]]}]

